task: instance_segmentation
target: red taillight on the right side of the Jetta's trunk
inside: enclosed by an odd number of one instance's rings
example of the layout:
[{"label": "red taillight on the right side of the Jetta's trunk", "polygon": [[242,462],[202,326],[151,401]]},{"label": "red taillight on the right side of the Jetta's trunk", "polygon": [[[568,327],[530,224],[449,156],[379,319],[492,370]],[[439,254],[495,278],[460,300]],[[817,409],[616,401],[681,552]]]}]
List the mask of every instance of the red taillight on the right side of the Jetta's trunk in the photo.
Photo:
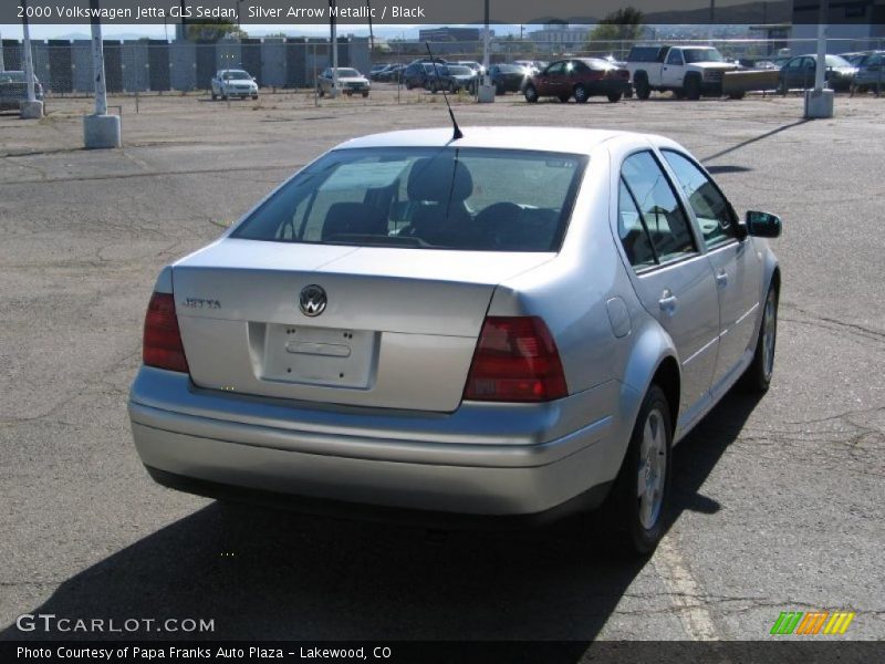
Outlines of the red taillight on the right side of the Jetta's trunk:
[{"label": "red taillight on the right side of the Jetta's trunk", "polygon": [[560,353],[538,317],[489,317],[479,334],[464,397],[544,402],[569,393]]}]

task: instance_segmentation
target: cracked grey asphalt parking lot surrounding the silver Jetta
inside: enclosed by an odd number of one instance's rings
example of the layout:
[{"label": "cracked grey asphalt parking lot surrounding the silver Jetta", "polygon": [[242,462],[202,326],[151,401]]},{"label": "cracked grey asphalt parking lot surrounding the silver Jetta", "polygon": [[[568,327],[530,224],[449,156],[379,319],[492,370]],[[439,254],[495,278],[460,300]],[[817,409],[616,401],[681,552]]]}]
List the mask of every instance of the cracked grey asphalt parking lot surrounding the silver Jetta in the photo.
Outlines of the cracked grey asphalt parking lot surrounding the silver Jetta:
[{"label": "cracked grey asphalt parking lot surrounding the silver Jetta", "polygon": [[39,122],[0,114],[0,639],[77,636],[14,625],[54,613],[214,619],[194,636],[218,639],[757,640],[781,611],[814,610],[856,612],[830,639],[883,639],[885,100],[872,96],[813,122],[798,96],[455,100],[465,128],[665,134],[739,211],[784,220],[772,387],[732,395],[676,449],[673,525],[650,560],[559,531],[228,508],[148,478],[126,394],[157,271],[336,143],[447,125],[441,97],[396,95],[145,97],[138,113],[113,98],[125,146],[93,153],[88,100],[50,100]]}]

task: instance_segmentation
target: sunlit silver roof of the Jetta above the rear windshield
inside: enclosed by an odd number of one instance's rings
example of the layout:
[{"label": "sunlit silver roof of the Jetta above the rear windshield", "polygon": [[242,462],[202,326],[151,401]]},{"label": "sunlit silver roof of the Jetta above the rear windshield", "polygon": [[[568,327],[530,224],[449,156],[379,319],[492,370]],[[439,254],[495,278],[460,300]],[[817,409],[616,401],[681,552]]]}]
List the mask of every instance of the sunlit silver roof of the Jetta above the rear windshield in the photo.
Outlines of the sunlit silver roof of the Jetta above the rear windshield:
[{"label": "sunlit silver roof of the Jetta above the rear windshield", "polygon": [[[602,143],[623,139],[670,144],[666,138],[635,132],[583,129],[572,127],[461,127],[464,138],[458,147],[488,147],[587,155]],[[405,129],[353,138],[335,149],[365,147],[446,147],[451,143],[451,128]]]}]

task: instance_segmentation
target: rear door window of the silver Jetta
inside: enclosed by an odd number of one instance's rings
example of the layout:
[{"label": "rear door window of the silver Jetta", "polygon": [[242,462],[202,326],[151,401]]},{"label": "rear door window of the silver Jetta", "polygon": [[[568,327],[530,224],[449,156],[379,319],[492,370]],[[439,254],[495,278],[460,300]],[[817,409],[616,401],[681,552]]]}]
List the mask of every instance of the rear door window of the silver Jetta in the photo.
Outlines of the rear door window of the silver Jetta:
[{"label": "rear door window of the silver Jetta", "polygon": [[638,208],[658,262],[697,251],[688,218],[657,159],[641,152],[624,159],[621,175]]}]

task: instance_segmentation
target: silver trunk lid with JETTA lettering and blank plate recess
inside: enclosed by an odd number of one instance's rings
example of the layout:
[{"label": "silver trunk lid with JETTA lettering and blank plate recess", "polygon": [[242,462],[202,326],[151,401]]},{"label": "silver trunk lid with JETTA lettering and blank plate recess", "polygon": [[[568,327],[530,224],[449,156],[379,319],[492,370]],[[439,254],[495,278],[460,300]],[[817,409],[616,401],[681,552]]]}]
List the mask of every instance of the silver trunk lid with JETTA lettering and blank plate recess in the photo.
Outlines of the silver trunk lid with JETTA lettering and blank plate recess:
[{"label": "silver trunk lid with JETTA lettering and blank plate recess", "polygon": [[[494,287],[552,256],[226,239],[173,281],[199,386],[450,412]],[[326,297],[314,317],[300,308],[312,286]]]}]

